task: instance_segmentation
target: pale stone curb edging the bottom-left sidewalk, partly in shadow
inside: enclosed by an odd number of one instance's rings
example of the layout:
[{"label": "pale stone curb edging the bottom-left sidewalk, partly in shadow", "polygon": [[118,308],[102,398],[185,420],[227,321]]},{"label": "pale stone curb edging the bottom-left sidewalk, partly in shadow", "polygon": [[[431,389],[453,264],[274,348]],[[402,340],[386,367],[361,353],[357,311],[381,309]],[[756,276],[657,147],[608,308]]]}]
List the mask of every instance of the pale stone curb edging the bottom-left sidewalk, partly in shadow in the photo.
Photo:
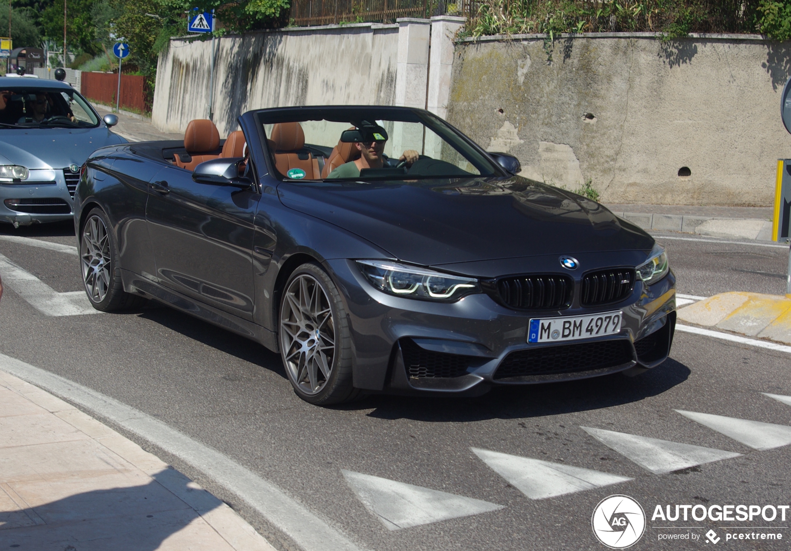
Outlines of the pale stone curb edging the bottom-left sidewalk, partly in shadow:
[{"label": "pale stone curb edging the bottom-left sidewalk, partly in shadow", "polygon": [[[255,531],[236,511],[203,489],[195,481],[168,466],[107,425],[80,409],[5,371],[0,371],[0,387],[18,394],[66,421],[78,431],[106,447],[121,459],[131,463],[162,485],[170,493],[192,508],[217,534],[236,551],[275,551],[261,534]],[[154,477],[156,475],[156,477]]]}]

